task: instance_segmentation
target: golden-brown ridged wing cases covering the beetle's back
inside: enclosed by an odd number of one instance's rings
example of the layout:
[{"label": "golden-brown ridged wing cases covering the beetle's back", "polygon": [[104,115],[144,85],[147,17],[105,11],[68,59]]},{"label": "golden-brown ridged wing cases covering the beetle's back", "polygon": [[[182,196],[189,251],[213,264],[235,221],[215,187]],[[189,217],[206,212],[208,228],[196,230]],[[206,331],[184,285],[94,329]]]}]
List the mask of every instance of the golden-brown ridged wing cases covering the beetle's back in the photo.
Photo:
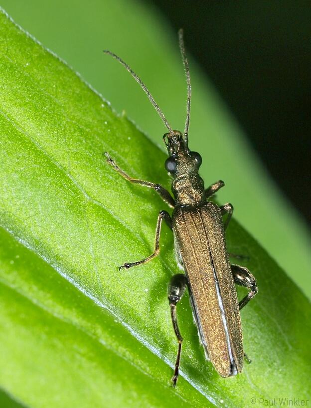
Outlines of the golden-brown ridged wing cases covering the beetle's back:
[{"label": "golden-brown ridged wing cases covering the beetle's back", "polygon": [[220,209],[210,202],[176,206],[172,219],[205,351],[222,377],[240,373],[242,329]]}]

